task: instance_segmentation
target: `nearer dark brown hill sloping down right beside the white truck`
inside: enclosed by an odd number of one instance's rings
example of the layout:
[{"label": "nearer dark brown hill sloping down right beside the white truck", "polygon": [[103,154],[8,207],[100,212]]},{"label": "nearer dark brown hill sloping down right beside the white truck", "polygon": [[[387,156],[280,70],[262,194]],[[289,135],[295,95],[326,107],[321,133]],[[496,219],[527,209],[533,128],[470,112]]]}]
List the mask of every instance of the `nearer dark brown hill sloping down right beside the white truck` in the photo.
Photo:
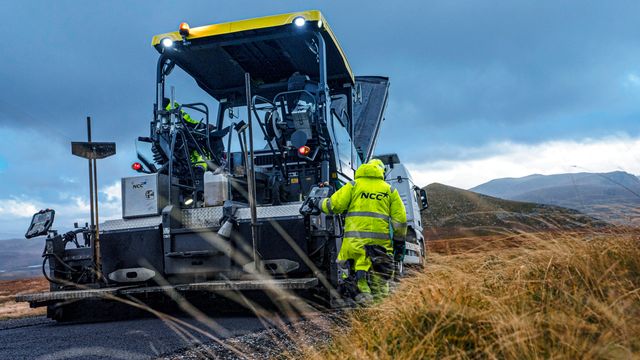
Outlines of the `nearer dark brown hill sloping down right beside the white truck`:
[{"label": "nearer dark brown hill sloping down right beside the white truck", "polygon": [[422,222],[430,239],[608,225],[558,206],[503,200],[438,183],[428,185],[426,190],[429,208],[422,212]]}]

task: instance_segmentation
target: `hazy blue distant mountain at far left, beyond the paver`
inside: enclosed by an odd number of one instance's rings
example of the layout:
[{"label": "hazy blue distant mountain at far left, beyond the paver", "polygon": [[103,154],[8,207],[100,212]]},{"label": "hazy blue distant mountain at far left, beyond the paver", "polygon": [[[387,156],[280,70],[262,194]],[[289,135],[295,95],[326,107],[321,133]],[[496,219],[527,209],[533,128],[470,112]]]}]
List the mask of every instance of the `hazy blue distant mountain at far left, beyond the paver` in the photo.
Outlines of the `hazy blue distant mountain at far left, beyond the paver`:
[{"label": "hazy blue distant mountain at far left, beyond the paver", "polygon": [[44,239],[0,240],[0,280],[29,278],[42,274]]}]

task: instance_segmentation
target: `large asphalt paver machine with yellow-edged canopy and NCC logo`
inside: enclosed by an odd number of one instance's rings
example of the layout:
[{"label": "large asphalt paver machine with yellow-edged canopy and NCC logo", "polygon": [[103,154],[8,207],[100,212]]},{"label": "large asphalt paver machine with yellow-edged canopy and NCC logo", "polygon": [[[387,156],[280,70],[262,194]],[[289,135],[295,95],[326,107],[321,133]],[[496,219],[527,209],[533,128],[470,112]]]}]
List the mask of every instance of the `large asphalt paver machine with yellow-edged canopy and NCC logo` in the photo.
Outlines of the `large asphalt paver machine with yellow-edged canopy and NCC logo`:
[{"label": "large asphalt paver machine with yellow-edged canopy and NCC logo", "polygon": [[[372,156],[388,79],[354,76],[319,11],[182,23],[152,45],[156,100],[138,139],[152,155],[122,179],[122,219],[58,234],[52,211],[34,216],[28,237],[48,234],[51,290],[19,300],[58,319],[78,300],[168,289],[280,288],[334,302],[342,220],[300,210]],[[181,103],[167,85],[176,67],[209,98]]]}]

